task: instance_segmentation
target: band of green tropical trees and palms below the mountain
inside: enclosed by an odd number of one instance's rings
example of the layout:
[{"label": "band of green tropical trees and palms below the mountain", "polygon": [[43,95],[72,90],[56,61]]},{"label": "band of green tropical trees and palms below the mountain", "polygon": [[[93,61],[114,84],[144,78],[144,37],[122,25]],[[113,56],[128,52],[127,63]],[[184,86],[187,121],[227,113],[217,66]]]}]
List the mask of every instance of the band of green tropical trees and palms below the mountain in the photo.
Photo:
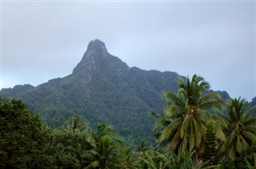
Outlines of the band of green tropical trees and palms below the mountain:
[{"label": "band of green tropical trees and palms below the mountain", "polygon": [[178,78],[176,91],[163,93],[162,114],[151,112],[156,142],[134,147],[110,125],[90,128],[74,115],[50,128],[22,100],[1,97],[0,168],[256,167],[255,106],[223,100],[197,75]]}]

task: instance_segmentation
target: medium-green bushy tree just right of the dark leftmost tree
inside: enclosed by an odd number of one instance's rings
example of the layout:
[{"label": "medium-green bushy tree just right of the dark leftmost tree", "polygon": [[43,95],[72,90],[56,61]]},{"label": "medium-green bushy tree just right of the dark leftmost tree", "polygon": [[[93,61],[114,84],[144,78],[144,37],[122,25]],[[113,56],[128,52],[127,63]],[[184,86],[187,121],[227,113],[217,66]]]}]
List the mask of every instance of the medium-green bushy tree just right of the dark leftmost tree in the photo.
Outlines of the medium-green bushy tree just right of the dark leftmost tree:
[{"label": "medium-green bushy tree just right of the dark leftmost tree", "polygon": [[90,127],[79,116],[66,120],[66,125],[52,132],[55,167],[82,168],[90,163],[95,140]]}]

